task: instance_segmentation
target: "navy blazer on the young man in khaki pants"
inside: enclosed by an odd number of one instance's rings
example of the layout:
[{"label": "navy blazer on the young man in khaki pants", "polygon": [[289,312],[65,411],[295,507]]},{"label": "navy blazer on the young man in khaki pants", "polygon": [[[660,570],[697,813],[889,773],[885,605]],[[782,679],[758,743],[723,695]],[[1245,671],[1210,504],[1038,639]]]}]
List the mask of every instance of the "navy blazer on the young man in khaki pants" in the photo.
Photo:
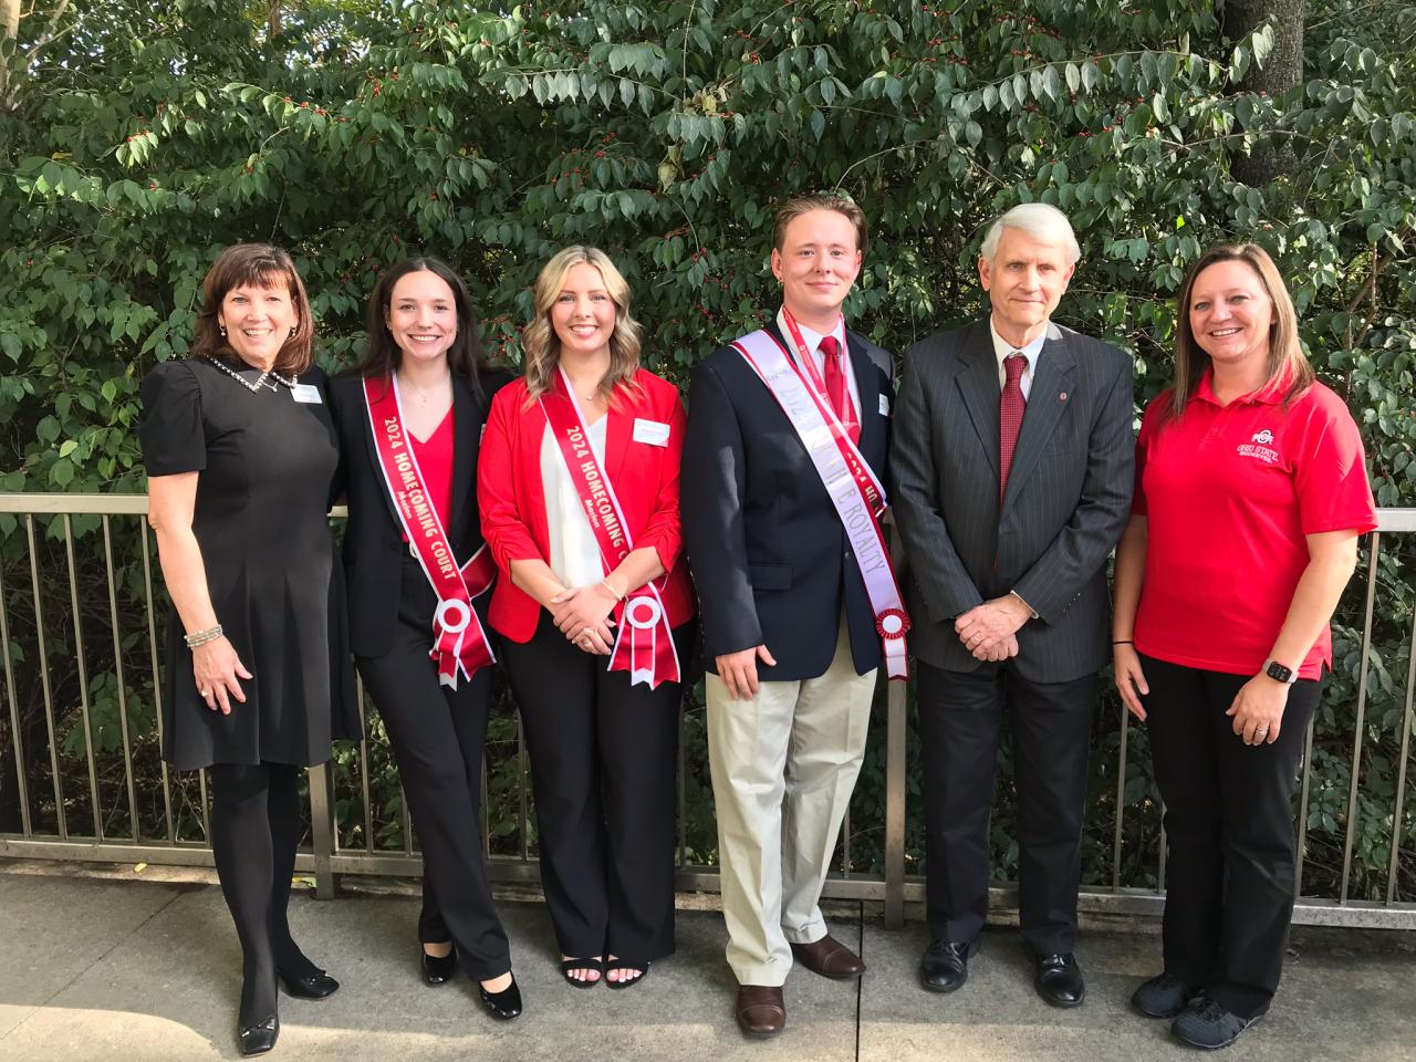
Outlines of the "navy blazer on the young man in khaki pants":
[{"label": "navy blazer on the young man in khaki pants", "polygon": [[[775,323],[769,331],[782,341]],[[884,483],[891,357],[852,331],[847,347],[861,453]],[[759,661],[765,681],[824,674],[843,602],[857,673],[879,664],[875,616],[835,507],[777,399],[732,347],[694,371],[680,511],[709,670],[714,657],[765,644],[777,661]]]}]

